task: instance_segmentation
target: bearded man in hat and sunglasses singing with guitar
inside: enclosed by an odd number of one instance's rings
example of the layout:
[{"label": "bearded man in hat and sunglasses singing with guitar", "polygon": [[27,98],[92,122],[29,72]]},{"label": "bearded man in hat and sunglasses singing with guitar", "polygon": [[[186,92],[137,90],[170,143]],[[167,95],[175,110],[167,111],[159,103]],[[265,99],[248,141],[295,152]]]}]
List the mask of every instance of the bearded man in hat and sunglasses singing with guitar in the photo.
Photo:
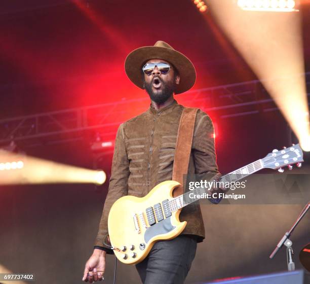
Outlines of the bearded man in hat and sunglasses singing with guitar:
[{"label": "bearded man in hat and sunglasses singing with guitar", "polygon": [[[94,252],[85,265],[83,280],[101,280],[108,243],[107,219],[112,204],[122,196],[143,197],[156,185],[172,180],[175,145],[184,107],[174,94],[189,90],[196,81],[195,67],[165,42],[132,51],[126,58],[129,79],[150,97],[149,109],[120,125],[115,139],[109,190],[104,203]],[[188,173],[218,174],[210,117],[199,110],[195,120]],[[186,206],[181,235],[158,241],[136,265],[144,284],[183,283],[195,258],[197,242],[205,238],[199,204]]]}]

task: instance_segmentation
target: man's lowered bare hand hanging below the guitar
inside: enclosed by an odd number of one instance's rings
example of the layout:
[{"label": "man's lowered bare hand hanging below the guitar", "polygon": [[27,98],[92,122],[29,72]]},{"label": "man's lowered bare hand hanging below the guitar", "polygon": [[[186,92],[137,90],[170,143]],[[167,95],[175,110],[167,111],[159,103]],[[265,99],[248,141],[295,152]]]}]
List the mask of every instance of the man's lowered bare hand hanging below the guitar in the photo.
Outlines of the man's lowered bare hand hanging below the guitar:
[{"label": "man's lowered bare hand hanging below the guitar", "polygon": [[95,248],[94,253],[85,264],[85,270],[82,280],[85,282],[101,281],[103,273],[105,271],[105,251],[97,250]]}]

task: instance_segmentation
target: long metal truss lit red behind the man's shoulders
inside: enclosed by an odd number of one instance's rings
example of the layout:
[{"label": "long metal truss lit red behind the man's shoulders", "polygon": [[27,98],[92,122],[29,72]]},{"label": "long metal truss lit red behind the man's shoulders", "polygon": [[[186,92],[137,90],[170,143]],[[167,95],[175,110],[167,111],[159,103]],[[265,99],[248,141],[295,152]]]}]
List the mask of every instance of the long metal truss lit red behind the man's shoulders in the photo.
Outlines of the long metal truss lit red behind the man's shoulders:
[{"label": "long metal truss lit red behind the man's shoulders", "polygon": [[[307,85],[310,85],[310,72],[302,76],[306,77]],[[185,100],[185,105],[199,105],[209,114],[216,112],[216,117],[220,119],[278,110],[258,80],[191,90],[187,93],[190,93],[190,99]],[[112,136],[120,123],[131,118],[132,110],[136,113],[145,111],[141,105],[147,100],[147,97],[128,99],[3,119],[0,120],[0,144],[44,137],[52,141],[53,136],[55,141],[74,140],[85,135],[86,130],[99,129],[106,131],[105,136]],[[110,117],[113,117],[113,122]]]}]

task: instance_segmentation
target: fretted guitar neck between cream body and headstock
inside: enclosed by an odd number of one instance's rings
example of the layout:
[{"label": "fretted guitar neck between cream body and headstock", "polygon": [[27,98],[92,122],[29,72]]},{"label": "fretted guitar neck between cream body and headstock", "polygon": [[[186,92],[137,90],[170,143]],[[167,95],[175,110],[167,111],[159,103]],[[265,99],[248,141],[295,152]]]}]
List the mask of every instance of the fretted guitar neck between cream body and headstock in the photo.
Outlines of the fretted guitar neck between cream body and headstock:
[{"label": "fretted guitar neck between cream body and headstock", "polygon": [[[244,177],[261,170],[262,168],[263,168],[263,163],[262,163],[262,160],[259,159],[235,171],[222,175],[220,179],[218,180],[218,182],[222,182],[224,184],[231,183],[231,182],[237,182],[243,179]],[[176,198],[171,199],[169,201],[171,211],[176,211],[182,207],[185,207],[186,205],[190,203],[193,203],[195,201],[198,201],[201,198],[204,198],[203,196],[207,191],[208,190],[206,190],[206,188],[200,187],[194,190],[190,190]],[[198,197],[198,196],[202,196],[202,197]]]}]

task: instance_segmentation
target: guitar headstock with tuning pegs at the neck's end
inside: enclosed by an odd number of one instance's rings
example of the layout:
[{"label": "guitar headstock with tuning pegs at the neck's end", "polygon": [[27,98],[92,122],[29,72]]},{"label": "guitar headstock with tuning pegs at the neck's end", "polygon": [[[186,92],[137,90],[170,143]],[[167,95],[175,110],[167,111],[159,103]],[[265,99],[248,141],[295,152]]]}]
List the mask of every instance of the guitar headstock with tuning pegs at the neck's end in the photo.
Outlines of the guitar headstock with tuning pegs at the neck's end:
[{"label": "guitar headstock with tuning pegs at the neck's end", "polygon": [[264,168],[278,169],[278,171],[283,172],[283,166],[288,166],[289,170],[293,168],[293,164],[301,167],[302,157],[302,150],[299,144],[296,144],[288,148],[284,147],[282,150],[275,149],[261,160]]}]

